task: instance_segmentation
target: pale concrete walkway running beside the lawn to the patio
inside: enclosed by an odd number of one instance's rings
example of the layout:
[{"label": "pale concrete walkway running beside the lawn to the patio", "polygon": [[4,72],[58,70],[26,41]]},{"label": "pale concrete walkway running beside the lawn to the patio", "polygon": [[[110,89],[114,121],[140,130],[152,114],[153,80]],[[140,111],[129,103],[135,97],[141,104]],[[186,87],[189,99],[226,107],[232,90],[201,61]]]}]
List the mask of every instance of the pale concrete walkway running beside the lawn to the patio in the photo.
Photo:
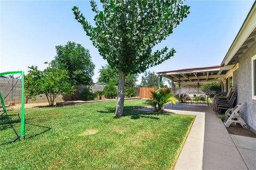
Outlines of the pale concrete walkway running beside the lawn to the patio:
[{"label": "pale concrete walkway running beside the lawn to the patio", "polygon": [[211,107],[178,104],[166,106],[165,110],[196,115],[174,169],[248,169]]}]

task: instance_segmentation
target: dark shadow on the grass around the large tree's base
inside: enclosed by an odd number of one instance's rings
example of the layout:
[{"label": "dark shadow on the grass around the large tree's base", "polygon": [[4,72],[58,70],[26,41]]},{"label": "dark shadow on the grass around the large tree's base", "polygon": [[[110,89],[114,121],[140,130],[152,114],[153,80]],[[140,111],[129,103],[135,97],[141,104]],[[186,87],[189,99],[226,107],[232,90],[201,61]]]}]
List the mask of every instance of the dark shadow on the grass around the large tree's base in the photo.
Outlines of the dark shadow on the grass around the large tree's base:
[{"label": "dark shadow on the grass around the large tree's base", "polygon": [[[134,111],[134,109],[140,108],[138,106],[124,106],[124,115],[123,116],[130,116],[131,119],[138,119],[138,118],[151,118],[153,120],[159,120],[159,115],[169,116],[170,113],[156,113],[156,112],[138,112]],[[115,114],[116,108],[115,107],[104,107],[102,111],[97,111],[98,113],[103,114]],[[118,118],[118,117],[114,117]]]}]

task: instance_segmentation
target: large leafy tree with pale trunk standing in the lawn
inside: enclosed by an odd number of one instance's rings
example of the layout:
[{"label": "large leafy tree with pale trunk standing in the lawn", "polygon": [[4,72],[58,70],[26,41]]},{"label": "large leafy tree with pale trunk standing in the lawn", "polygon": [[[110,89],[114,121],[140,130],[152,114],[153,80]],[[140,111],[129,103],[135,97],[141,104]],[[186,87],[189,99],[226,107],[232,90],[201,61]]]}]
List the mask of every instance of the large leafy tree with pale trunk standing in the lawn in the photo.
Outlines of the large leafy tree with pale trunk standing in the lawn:
[{"label": "large leafy tree with pale trunk standing in the lawn", "polygon": [[103,11],[90,1],[95,12],[91,25],[74,6],[75,19],[98,48],[103,59],[119,74],[116,116],[123,115],[125,75],[145,72],[174,55],[175,50],[153,47],[168,37],[187,17],[189,6],[181,0],[101,0]]}]

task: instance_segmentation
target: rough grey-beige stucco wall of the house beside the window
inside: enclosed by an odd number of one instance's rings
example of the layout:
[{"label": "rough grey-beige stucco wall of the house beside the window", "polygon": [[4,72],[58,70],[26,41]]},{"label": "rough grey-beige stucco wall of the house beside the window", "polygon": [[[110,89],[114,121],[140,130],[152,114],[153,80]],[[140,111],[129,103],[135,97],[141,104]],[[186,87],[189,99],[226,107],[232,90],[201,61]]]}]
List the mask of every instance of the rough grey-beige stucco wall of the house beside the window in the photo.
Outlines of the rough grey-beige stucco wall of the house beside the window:
[{"label": "rough grey-beige stucco wall of the house beside the window", "polygon": [[256,130],[256,100],[252,100],[251,58],[256,55],[256,42],[239,58],[239,68],[233,73],[237,103],[244,103],[242,112],[247,124]]}]

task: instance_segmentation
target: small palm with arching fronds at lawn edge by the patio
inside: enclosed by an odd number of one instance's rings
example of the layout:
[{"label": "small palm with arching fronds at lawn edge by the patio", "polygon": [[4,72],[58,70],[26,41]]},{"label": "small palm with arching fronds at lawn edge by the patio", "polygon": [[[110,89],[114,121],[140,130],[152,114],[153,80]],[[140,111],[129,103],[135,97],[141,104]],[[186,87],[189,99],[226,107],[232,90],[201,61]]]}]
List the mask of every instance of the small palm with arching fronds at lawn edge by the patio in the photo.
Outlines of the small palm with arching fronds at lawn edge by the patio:
[{"label": "small palm with arching fronds at lawn edge by the patio", "polygon": [[147,104],[154,107],[154,112],[163,112],[163,107],[165,104],[172,102],[176,104],[176,99],[172,96],[170,89],[162,90],[157,89],[156,91],[151,91],[152,97],[146,101]]}]

